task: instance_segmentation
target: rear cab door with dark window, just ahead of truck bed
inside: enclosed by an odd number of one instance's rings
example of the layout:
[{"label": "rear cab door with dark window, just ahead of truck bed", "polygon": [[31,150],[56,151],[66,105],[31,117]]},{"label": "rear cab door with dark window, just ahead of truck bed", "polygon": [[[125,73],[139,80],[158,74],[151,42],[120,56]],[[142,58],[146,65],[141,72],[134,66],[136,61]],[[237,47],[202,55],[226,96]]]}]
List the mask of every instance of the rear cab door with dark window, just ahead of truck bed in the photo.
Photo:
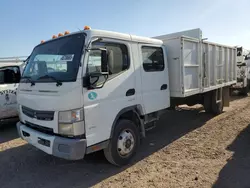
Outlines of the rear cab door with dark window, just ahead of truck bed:
[{"label": "rear cab door with dark window, just ahead of truck bed", "polygon": [[170,106],[167,58],[161,46],[139,45],[142,98],[146,114]]}]

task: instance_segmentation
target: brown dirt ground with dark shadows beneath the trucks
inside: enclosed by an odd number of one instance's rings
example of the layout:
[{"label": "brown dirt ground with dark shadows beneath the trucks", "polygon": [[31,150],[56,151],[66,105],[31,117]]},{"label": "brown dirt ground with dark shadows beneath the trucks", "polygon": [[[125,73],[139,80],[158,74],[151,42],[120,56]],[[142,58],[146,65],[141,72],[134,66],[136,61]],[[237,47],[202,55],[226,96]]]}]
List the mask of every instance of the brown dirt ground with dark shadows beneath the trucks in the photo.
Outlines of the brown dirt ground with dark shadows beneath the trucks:
[{"label": "brown dirt ground with dark shadows beneath the trucks", "polygon": [[233,97],[217,117],[188,108],[166,113],[134,164],[117,168],[103,153],[71,162],[0,129],[0,187],[250,187],[250,97]]}]

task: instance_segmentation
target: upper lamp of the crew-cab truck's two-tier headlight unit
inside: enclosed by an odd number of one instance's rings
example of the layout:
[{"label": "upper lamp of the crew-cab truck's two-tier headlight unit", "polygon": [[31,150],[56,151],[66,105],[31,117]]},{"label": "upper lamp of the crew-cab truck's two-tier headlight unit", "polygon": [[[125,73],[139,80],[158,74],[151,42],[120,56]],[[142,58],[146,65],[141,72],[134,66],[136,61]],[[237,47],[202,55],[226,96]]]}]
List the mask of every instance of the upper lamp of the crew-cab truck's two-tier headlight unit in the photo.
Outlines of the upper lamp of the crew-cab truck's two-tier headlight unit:
[{"label": "upper lamp of the crew-cab truck's two-tier headlight unit", "polygon": [[59,123],[75,123],[83,121],[83,109],[59,112]]}]

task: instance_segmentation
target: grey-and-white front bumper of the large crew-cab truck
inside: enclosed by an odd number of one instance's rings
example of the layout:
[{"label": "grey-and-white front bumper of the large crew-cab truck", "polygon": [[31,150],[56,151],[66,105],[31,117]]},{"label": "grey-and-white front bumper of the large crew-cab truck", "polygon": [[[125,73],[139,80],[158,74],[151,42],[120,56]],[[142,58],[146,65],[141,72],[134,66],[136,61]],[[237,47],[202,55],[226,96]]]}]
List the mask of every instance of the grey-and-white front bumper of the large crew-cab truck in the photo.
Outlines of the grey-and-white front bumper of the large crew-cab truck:
[{"label": "grey-and-white front bumper of the large crew-cab truck", "polygon": [[83,159],[86,139],[69,139],[33,130],[21,122],[16,124],[19,136],[47,154],[68,160]]}]

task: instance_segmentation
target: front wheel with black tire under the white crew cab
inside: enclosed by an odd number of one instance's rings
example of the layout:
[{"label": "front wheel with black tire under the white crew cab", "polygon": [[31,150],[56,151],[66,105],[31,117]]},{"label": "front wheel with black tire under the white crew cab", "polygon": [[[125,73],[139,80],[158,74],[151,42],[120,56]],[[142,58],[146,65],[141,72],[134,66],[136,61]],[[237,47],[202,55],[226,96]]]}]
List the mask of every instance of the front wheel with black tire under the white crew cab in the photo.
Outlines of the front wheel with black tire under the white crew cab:
[{"label": "front wheel with black tire under the white crew cab", "polygon": [[116,166],[129,164],[140,145],[140,133],[134,122],[121,119],[117,122],[114,135],[104,149],[106,159]]}]

